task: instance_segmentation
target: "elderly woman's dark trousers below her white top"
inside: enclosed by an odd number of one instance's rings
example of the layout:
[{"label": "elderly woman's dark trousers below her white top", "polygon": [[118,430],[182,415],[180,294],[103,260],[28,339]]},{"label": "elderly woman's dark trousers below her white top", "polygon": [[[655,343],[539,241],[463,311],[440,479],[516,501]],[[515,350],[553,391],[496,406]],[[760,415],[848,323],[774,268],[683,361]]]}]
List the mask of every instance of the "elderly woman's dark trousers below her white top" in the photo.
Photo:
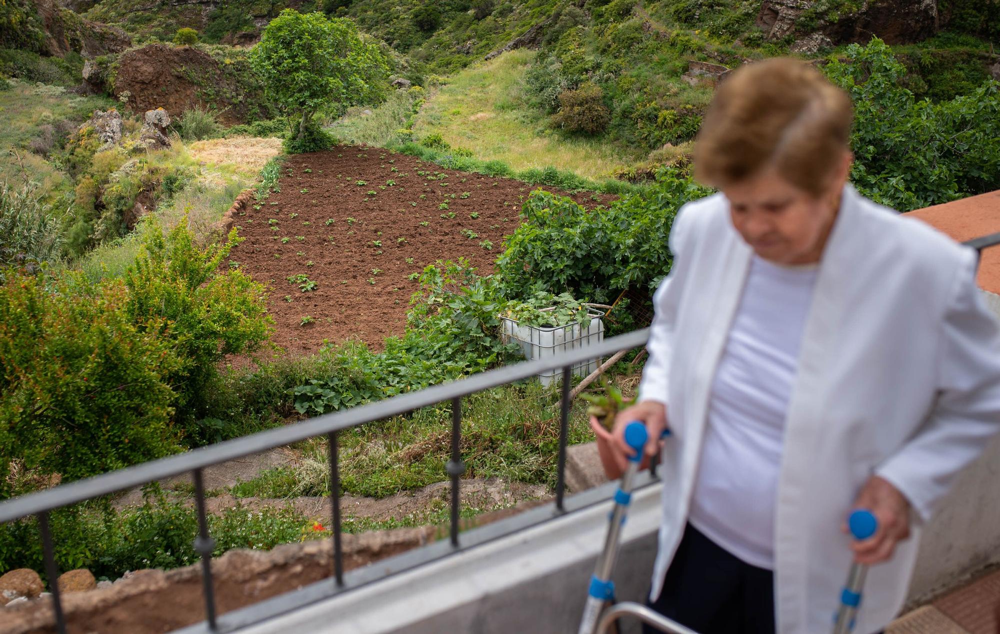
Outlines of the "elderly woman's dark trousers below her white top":
[{"label": "elderly woman's dark trousers below her white top", "polygon": [[[773,634],[774,574],[744,563],[690,524],[649,607],[699,634]],[[648,625],[643,634],[659,634]]]}]

